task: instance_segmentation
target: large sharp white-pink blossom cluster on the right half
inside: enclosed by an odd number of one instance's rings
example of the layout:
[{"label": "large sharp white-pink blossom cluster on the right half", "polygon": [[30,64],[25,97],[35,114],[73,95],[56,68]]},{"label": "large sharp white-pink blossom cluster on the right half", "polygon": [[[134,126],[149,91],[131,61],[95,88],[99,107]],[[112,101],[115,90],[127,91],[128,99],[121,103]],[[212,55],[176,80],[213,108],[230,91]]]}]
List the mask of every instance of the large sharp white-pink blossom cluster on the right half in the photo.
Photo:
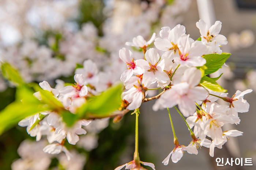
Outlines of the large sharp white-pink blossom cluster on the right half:
[{"label": "large sharp white-pink blossom cluster on the right half", "polygon": [[[199,68],[207,63],[203,56],[222,54],[220,46],[226,45],[227,39],[219,34],[220,21],[208,28],[203,20],[199,20],[196,26],[201,33],[201,38],[196,41],[186,34],[184,26],[178,24],[172,29],[162,27],[160,38],[154,42],[156,49],[146,50],[153,42],[155,33],[148,42],[142,36],[137,36],[133,38],[133,43],[126,43],[141,48],[144,59],[134,60],[133,53],[126,48],[119,51],[119,57],[127,66],[120,78],[127,89],[122,93],[123,100],[129,103],[126,109],[134,110],[142,102],[156,99],[153,110],[178,105],[182,115],[188,117],[186,121],[193,140],[188,146],[180,145],[174,132],[175,148],[162,162],[164,165],[168,165],[170,157],[172,162],[177,163],[185,151],[197,154],[197,148],[201,146],[210,148],[209,154],[213,157],[215,147],[222,148],[229,136],[240,136],[243,133],[237,130],[223,132],[222,126],[227,123],[239,124],[238,112],[249,110],[244,95],[252,92],[251,89],[244,92],[237,90],[229,98],[228,93],[216,92],[201,85],[204,72]],[[162,57],[159,53],[162,53]],[[146,98],[149,90],[157,89],[163,91],[155,97]],[[229,105],[216,103],[219,98]],[[193,127],[194,132],[191,130]]]}]

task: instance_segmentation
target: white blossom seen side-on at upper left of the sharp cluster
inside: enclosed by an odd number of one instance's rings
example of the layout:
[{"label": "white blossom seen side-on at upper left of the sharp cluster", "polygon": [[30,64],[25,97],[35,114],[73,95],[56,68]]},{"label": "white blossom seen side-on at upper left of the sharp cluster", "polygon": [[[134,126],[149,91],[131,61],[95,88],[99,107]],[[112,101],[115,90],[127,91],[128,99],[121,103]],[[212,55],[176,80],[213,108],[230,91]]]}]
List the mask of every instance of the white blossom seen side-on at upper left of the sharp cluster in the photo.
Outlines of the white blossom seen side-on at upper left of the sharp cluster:
[{"label": "white blossom seen side-on at upper left of the sharp cluster", "polygon": [[137,37],[133,38],[133,42],[126,42],[125,45],[127,46],[134,46],[140,48],[146,48],[156,39],[156,33],[154,32],[151,36],[150,40],[146,41],[143,36],[138,35]]}]

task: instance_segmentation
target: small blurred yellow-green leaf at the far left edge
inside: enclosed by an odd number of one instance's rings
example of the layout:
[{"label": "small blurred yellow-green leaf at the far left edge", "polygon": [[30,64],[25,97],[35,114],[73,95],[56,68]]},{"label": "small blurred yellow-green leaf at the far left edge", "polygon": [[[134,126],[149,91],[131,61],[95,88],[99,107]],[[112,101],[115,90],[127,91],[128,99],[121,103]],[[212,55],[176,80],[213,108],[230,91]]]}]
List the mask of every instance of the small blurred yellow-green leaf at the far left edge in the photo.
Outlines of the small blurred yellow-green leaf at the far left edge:
[{"label": "small blurred yellow-green leaf at the far left edge", "polygon": [[23,81],[22,77],[20,76],[18,70],[16,70],[14,67],[12,67],[9,63],[2,63],[1,64],[1,70],[3,76],[14,83],[15,86],[24,85],[25,82]]}]

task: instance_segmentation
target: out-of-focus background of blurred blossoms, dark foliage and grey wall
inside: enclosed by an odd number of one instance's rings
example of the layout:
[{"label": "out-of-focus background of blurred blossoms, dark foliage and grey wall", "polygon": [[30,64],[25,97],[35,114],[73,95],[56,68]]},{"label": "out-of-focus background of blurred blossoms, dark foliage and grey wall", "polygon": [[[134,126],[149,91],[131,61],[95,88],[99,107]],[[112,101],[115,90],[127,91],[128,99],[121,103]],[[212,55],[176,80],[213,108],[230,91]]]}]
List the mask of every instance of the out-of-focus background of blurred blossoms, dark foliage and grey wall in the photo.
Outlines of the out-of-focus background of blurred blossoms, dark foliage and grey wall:
[{"label": "out-of-focus background of blurred blossoms, dark foliage and grey wall", "polygon": [[[159,36],[163,26],[182,24],[186,33],[197,39],[199,19],[209,25],[215,20],[222,22],[220,34],[228,40],[222,50],[232,55],[219,84],[229,97],[235,90],[256,91],[255,0],[0,0],[0,55],[18,68],[27,82],[47,80],[54,86],[56,79],[73,82],[77,64],[86,59],[104,70],[119,60],[118,51],[127,47],[125,42],[137,35],[148,40],[153,32]],[[136,49],[130,49],[140,58]],[[0,90],[3,109],[14,100],[15,88],[0,75]],[[208,148],[202,148],[197,156],[186,153],[168,166],[161,163],[174,147],[168,113],[154,112],[155,101],[143,104],[141,160],[153,162],[157,170],[255,169],[255,97],[255,92],[245,96],[250,109],[240,113],[239,125],[223,127],[242,131],[243,136],[231,137],[221,150],[215,148],[214,158]],[[170,111],[179,142],[188,144],[191,139],[185,123],[174,109]],[[33,164],[38,164],[37,169],[114,169],[133,159],[134,123],[130,114],[116,124],[108,119],[94,122],[77,146],[69,146],[75,155],[73,162],[63,155],[44,154],[44,141],[35,143],[26,128],[14,127],[0,136],[0,169],[27,170],[33,169]],[[34,155],[40,155],[38,160]],[[252,158],[254,165],[217,167],[216,158]]]}]

